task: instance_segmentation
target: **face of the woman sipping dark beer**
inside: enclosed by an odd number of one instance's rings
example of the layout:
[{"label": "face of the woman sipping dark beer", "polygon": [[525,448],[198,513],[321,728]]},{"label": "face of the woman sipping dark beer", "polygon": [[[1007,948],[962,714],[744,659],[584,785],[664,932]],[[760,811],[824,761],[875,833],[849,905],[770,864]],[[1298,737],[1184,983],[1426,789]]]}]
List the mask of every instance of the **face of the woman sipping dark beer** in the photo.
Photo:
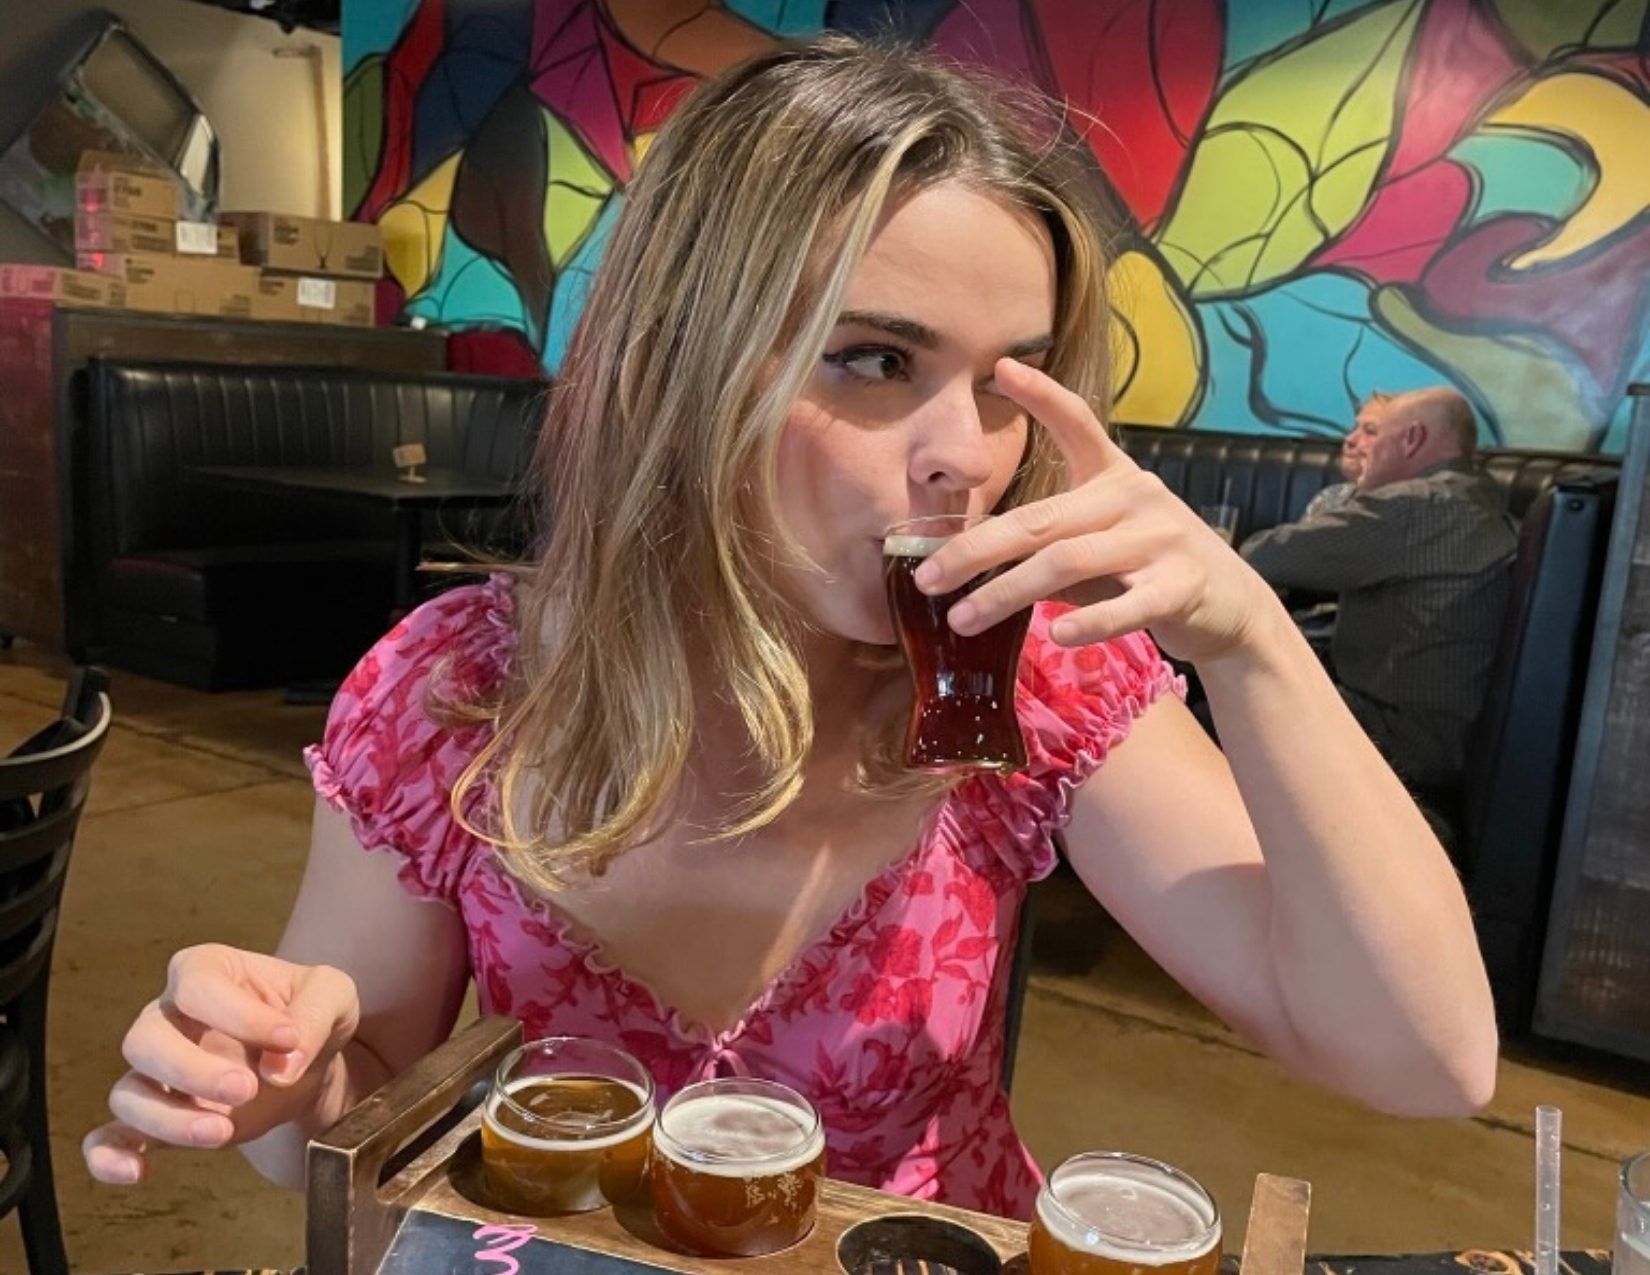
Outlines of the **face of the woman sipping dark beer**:
[{"label": "face of the woman sipping dark beer", "polygon": [[884,214],[779,445],[780,513],[818,566],[787,567],[784,587],[820,628],[894,642],[883,531],[997,505],[1028,424],[993,368],[1041,366],[1053,325],[1054,251],[1033,214],[957,185]]}]

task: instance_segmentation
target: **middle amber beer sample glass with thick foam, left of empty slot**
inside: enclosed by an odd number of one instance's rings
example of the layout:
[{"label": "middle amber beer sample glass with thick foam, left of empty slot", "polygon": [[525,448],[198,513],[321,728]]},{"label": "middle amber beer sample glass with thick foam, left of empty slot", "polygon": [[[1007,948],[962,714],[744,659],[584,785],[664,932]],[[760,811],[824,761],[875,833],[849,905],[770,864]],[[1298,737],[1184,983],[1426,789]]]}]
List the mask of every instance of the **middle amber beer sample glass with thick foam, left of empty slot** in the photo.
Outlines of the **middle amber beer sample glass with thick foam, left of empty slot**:
[{"label": "middle amber beer sample glass with thick foam, left of empty slot", "polygon": [[648,1174],[660,1230],[700,1257],[761,1257],[813,1229],[825,1127],[772,1080],[705,1080],[665,1103]]}]

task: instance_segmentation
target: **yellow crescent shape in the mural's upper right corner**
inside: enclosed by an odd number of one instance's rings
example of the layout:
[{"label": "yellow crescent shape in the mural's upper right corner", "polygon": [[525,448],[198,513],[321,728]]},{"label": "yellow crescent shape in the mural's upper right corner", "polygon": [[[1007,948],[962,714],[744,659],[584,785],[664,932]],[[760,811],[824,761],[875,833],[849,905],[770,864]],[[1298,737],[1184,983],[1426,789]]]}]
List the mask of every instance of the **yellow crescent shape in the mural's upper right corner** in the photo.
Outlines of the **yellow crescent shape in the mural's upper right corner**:
[{"label": "yellow crescent shape in the mural's upper right corner", "polygon": [[1539,247],[1513,261],[1515,271],[1548,266],[1581,252],[1650,208],[1650,102],[1604,76],[1569,73],[1536,81],[1483,122],[1485,129],[1553,134],[1592,152],[1599,180],[1581,208]]}]

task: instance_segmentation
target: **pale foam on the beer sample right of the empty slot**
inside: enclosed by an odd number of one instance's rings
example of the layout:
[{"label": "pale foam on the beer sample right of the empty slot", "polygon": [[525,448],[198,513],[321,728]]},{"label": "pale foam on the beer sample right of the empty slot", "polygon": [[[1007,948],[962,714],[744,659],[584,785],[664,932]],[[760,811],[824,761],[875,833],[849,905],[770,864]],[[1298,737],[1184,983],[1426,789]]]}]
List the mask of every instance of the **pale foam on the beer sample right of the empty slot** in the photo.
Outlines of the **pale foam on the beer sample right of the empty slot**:
[{"label": "pale foam on the beer sample right of the empty slot", "polygon": [[1219,1244],[1219,1212],[1190,1179],[1140,1160],[1079,1156],[1038,1196],[1066,1247],[1134,1267],[1190,1262]]}]

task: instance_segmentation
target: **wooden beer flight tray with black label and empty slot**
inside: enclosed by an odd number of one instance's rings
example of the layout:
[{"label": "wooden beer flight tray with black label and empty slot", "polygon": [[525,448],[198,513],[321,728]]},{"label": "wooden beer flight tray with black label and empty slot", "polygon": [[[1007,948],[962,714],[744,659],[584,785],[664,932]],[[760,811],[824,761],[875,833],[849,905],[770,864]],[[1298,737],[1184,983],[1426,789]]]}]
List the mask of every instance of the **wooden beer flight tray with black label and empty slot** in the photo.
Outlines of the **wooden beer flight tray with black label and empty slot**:
[{"label": "wooden beer flight tray with black label and empty slot", "polygon": [[[450,1117],[518,1039],[518,1023],[480,1019],[310,1143],[309,1275],[1026,1275],[1023,1222],[835,1181],[813,1230],[767,1257],[680,1252],[645,1201],[500,1212],[482,1184],[480,1110]],[[1305,1183],[1256,1181],[1244,1275],[1300,1275],[1308,1199]]]}]

